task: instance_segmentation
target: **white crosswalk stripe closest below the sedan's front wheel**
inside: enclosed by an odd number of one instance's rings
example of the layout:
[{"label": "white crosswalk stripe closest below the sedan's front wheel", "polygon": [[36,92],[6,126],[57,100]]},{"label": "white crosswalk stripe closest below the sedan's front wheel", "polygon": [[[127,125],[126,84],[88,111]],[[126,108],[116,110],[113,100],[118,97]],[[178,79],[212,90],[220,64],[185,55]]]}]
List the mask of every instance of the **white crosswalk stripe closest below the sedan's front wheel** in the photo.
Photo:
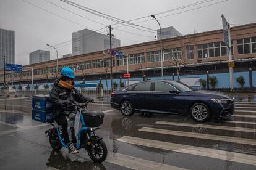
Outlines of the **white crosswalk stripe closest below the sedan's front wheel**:
[{"label": "white crosswalk stripe closest below the sedan's front wheel", "polygon": [[208,125],[208,124],[179,123],[179,122],[169,122],[169,121],[156,121],[155,124],[185,126],[185,127],[202,127],[202,128],[207,128],[207,129],[220,129],[220,130],[226,130],[226,131],[256,133],[256,129],[242,128],[242,127],[231,127],[231,126],[215,126],[215,125]]}]

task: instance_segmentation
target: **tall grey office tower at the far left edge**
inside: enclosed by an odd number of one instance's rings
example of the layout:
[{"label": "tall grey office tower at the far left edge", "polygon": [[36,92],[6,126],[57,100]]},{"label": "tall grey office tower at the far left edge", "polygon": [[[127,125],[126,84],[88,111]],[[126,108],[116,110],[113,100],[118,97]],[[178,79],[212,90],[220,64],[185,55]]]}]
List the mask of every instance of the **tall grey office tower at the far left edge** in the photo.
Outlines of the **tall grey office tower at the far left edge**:
[{"label": "tall grey office tower at the far left edge", "polygon": [[15,63],[15,32],[0,28],[0,69],[4,68],[4,59],[6,63]]}]

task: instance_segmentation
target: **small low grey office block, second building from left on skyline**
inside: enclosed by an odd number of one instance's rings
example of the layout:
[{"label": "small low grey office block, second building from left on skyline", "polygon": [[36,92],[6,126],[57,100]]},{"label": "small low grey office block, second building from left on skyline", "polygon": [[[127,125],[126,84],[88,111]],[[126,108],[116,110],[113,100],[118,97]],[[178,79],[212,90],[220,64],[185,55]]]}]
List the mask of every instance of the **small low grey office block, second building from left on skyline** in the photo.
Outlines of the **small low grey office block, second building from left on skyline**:
[{"label": "small low grey office block, second building from left on skyline", "polygon": [[50,52],[45,50],[36,50],[29,54],[29,64],[47,62],[50,60]]}]

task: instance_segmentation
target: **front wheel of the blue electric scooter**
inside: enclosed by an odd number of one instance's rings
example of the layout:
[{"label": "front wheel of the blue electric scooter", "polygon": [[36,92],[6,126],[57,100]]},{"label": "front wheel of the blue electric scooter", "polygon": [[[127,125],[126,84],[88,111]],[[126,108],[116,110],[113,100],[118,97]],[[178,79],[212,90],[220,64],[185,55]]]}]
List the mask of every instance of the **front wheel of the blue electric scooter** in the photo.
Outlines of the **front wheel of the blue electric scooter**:
[{"label": "front wheel of the blue electric scooter", "polygon": [[90,139],[90,145],[87,145],[88,155],[95,163],[102,163],[108,155],[106,144],[98,136],[92,136]]}]

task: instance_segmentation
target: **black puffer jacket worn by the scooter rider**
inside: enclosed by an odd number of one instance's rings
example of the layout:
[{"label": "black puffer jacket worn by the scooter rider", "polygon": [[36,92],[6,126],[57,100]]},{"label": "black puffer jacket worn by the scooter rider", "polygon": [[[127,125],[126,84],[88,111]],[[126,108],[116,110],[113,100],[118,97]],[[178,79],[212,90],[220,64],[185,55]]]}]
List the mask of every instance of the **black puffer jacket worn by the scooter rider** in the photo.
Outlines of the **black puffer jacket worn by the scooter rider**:
[{"label": "black puffer jacket worn by the scooter rider", "polygon": [[54,117],[59,114],[69,115],[70,112],[75,111],[74,105],[72,103],[79,102],[87,102],[90,98],[83,96],[80,94],[77,89],[66,89],[59,85],[59,80],[57,79],[54,83],[53,89],[49,92],[50,101],[53,104]]}]

